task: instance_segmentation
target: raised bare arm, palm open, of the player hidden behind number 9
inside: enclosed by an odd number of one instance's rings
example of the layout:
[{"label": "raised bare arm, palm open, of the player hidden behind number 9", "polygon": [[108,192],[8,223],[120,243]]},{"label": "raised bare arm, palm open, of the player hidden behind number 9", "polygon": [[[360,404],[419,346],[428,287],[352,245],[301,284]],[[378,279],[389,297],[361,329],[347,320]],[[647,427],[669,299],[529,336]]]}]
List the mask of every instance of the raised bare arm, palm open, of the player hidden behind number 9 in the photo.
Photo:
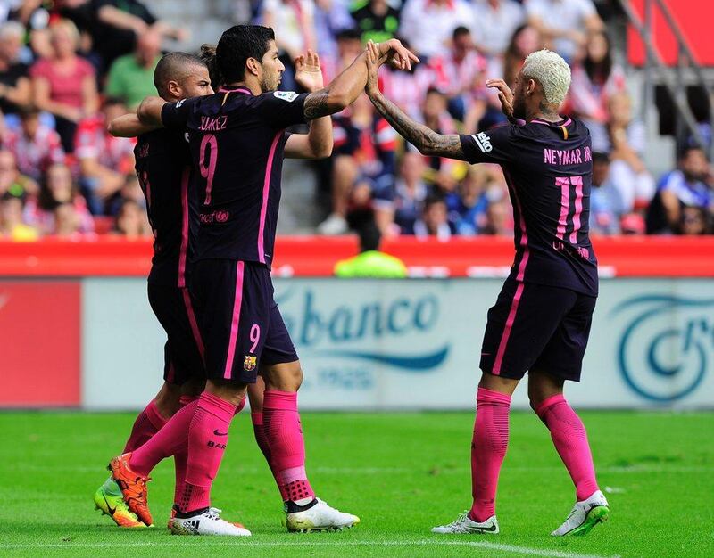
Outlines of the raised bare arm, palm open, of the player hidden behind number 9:
[{"label": "raised bare arm, palm open, of the player hidden behind number 9", "polygon": [[[295,58],[295,81],[306,91],[323,88],[322,70],[318,53],[308,50],[307,55]],[[287,138],[285,156],[288,159],[323,159],[332,154],[332,119],[323,116],[310,122],[310,132],[293,134]]]}]

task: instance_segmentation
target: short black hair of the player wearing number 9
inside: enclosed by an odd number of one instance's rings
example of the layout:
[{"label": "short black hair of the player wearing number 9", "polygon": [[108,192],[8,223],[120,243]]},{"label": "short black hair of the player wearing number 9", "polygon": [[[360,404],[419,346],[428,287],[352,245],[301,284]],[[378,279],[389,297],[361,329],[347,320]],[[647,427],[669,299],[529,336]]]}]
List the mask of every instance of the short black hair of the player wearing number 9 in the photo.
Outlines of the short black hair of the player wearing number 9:
[{"label": "short black hair of the player wearing number 9", "polygon": [[216,46],[216,62],[227,84],[245,78],[245,62],[249,58],[262,61],[275,33],[262,25],[234,25],[220,36]]}]

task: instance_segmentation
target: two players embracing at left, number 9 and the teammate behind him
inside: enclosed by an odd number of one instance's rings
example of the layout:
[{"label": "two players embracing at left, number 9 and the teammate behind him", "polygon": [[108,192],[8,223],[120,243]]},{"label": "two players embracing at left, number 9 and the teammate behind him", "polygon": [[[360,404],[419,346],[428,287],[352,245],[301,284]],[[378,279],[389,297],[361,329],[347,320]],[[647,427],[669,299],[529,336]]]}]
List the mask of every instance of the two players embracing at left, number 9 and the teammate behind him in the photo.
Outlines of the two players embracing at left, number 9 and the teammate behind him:
[{"label": "two players embracing at left, number 9 and the teammate behind him", "polygon": [[[397,40],[378,53],[404,70],[419,62]],[[309,52],[295,64],[310,93],[276,91],[285,67],[272,29],[236,26],[210,60],[220,80],[216,93],[204,62],[170,53],[154,74],[161,97],[146,98],[136,116],[112,123],[116,135],[139,135],[137,174],[155,234],[149,301],[168,336],[162,390],[137,417],[123,453],[112,459],[112,478],[95,494],[95,504],[119,525],[154,523],[148,475],[173,455],[170,531],[251,534],[211,506],[212,481],[246,391],[287,529],[360,521],[317,498],[305,472],[297,410],[303,371],[273,299],[270,264],[282,160],[330,154],[328,115],[362,94],[366,59],[365,51],[322,88],[319,60]],[[286,133],[308,122],[307,135]]]}]

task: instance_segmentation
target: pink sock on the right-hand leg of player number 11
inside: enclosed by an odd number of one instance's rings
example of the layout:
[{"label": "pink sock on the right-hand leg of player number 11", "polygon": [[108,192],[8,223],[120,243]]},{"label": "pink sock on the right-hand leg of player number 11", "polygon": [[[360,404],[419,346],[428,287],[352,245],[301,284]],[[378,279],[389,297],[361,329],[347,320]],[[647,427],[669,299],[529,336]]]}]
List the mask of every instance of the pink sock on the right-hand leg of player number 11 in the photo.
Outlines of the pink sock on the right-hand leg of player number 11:
[{"label": "pink sock on the right-hand leg of player number 11", "polygon": [[551,431],[552,443],[575,484],[577,501],[586,500],[598,487],[583,422],[562,394],[545,399],[535,413]]}]

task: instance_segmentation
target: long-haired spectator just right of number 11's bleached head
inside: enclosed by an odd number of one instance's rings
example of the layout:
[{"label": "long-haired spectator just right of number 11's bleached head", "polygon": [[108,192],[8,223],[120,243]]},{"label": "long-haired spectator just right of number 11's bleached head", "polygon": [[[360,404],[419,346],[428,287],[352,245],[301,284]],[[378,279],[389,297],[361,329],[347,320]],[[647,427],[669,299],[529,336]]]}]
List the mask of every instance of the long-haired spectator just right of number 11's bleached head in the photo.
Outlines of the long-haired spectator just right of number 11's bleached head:
[{"label": "long-haired spectator just right of number 11's bleached head", "polygon": [[625,90],[625,71],[612,61],[610,38],[598,31],[588,39],[583,61],[573,66],[566,107],[590,129],[595,151],[610,151],[610,98]]}]

